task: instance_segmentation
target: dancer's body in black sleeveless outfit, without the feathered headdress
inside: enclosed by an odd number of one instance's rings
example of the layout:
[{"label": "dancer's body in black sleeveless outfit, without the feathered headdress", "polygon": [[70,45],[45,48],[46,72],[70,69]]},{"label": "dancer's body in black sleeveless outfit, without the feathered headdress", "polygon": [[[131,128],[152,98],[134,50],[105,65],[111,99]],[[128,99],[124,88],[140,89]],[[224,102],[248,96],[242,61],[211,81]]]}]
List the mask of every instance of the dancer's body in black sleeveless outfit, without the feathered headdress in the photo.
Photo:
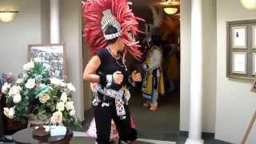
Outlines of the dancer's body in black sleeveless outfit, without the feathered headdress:
[{"label": "dancer's body in black sleeveless outfit, without the feathered headdress", "polygon": [[[106,34],[115,34],[114,26],[109,26]],[[99,50],[90,60],[84,72],[87,82],[98,83],[97,94],[94,94],[94,118],[97,129],[97,142],[107,144],[110,141],[111,119],[114,120],[122,143],[132,142],[137,138],[136,130],[130,127],[130,111],[128,109],[124,87],[141,82],[141,74],[134,71],[129,76],[126,66],[122,62],[120,52],[124,48],[122,38],[108,40],[108,46]],[[106,90],[110,90],[106,92]],[[116,93],[121,97],[114,98]],[[120,100],[120,102],[117,102]]]}]

